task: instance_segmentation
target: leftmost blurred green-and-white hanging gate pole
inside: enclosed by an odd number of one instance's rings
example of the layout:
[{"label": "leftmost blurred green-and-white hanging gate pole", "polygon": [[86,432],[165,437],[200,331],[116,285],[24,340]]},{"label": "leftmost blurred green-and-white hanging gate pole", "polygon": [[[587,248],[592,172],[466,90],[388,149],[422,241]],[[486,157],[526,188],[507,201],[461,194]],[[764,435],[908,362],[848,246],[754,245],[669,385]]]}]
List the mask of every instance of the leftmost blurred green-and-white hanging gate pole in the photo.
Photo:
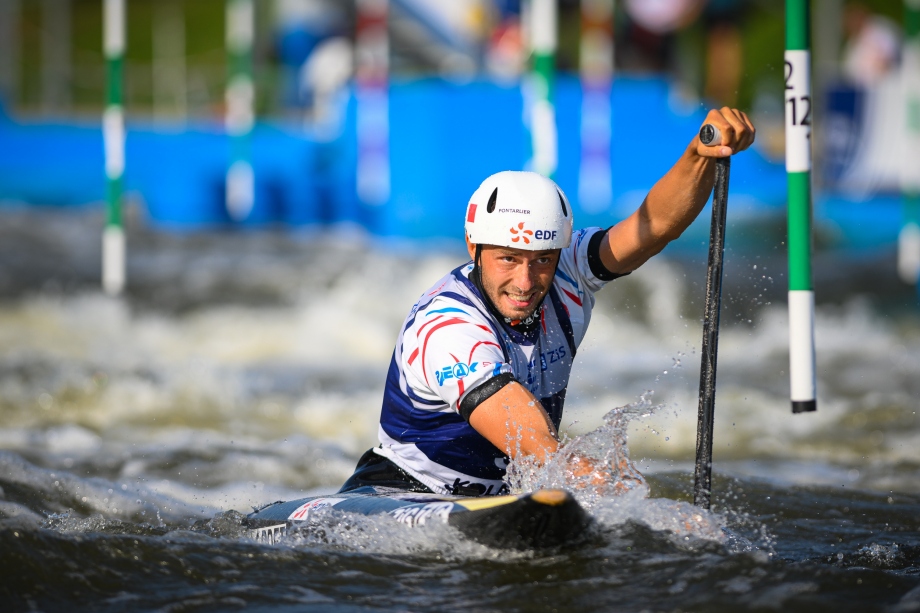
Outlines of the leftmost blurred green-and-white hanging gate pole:
[{"label": "leftmost blurred green-and-white hanging gate pole", "polygon": [[125,232],[121,219],[125,172],[125,113],[122,75],[125,55],[125,0],[103,4],[102,46],[106,62],[106,105],[102,114],[105,143],[106,224],[102,234],[102,288],[117,296],[125,287]]}]

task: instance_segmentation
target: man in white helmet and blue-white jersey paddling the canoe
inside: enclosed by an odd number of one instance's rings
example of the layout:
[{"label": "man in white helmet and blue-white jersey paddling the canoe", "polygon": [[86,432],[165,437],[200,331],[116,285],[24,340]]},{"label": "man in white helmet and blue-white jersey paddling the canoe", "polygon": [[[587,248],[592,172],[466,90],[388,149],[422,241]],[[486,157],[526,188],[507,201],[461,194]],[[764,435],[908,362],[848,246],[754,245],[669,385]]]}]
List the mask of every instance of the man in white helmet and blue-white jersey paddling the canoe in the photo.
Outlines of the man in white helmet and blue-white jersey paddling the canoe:
[{"label": "man in white helmet and blue-white jersey paddling the canoe", "polygon": [[[470,262],[412,307],[396,342],[380,415],[380,445],[340,491],[365,485],[456,495],[507,491],[509,458],[543,463],[558,429],[573,358],[594,294],[683,233],[712,191],[715,159],[754,142],[747,115],[725,107],[642,205],[611,228],[573,232],[572,209],[550,179],[505,171],[487,178],[466,210]],[[644,146],[639,144],[637,153]],[[578,476],[604,473],[587,459]]]}]

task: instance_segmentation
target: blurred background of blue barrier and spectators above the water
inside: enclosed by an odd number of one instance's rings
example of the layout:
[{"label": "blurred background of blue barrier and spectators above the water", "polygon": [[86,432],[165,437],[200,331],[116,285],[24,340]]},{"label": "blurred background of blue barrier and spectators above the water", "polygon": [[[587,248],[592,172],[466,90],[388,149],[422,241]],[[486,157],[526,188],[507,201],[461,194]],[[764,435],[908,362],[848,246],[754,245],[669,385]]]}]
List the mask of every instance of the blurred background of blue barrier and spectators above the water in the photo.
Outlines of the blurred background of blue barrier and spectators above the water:
[{"label": "blurred background of blue barrier and spectators above the water", "polygon": [[[747,110],[759,128],[756,147],[732,169],[731,219],[781,220],[782,4],[659,4],[673,7],[656,12],[639,2],[615,5],[610,71],[600,86],[610,104],[610,197],[591,206],[579,198],[585,17],[579,2],[557,5],[554,178],[573,201],[578,223],[610,225],[628,215],[676,160],[706,111],[722,104]],[[900,100],[891,84],[899,50],[871,79],[859,82],[847,72],[860,37],[853,6],[864,13],[860,27],[869,29],[871,21],[899,45],[899,4],[815,3],[819,248],[886,247],[901,228],[898,164],[878,155],[878,141],[898,129],[885,122],[885,109]],[[0,202],[100,206],[101,4],[0,0],[0,8],[6,17]],[[357,5],[259,2],[250,141],[255,198],[245,216],[231,218],[225,206],[232,145],[223,127],[224,19],[222,0],[128,2],[124,187],[127,201],[152,227],[357,224],[381,237],[459,240],[463,208],[479,182],[528,166],[528,52],[519,2],[391,0],[385,109],[390,190],[384,202],[373,204],[362,202],[355,187],[353,75],[361,55],[343,51],[356,44]],[[678,246],[698,247],[702,232],[695,228]]]}]

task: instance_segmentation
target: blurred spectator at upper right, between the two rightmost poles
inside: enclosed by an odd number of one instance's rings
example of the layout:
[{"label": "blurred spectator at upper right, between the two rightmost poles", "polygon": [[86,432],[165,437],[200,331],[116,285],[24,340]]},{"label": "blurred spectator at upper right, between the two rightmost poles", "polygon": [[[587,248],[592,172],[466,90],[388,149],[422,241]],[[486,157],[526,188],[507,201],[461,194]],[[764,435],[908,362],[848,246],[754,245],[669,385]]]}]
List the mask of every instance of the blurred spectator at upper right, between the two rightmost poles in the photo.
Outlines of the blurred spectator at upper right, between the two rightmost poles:
[{"label": "blurred spectator at upper right, between the two rightmost poles", "polygon": [[862,2],[849,2],[843,13],[847,36],[843,50],[843,75],[854,85],[876,85],[898,63],[898,27],[873,14]]}]

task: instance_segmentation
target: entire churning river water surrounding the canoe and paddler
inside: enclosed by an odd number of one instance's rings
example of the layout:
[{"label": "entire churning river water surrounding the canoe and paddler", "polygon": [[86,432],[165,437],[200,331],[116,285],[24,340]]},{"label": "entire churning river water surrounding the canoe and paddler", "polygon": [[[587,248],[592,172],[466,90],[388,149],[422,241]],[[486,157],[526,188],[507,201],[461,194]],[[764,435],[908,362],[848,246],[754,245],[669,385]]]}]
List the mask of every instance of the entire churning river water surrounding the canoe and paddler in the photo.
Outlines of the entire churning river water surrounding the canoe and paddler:
[{"label": "entire churning river water surrounding the canoe and paddler", "polygon": [[[633,485],[576,488],[596,520],[588,543],[496,552],[445,525],[329,514],[267,546],[241,514],[350,474],[376,439],[399,326],[462,250],[135,233],[128,298],[111,300],[95,290],[100,220],[26,221],[15,232],[41,240],[0,249],[14,607],[918,609],[920,319],[850,290],[826,298],[837,263],[823,286],[816,264],[819,411],[792,416],[786,309],[768,278],[785,263],[727,255],[713,512],[688,500],[705,263],[655,258],[598,295],[569,385],[571,449]],[[30,247],[53,243],[66,260]],[[875,288],[879,272],[865,274]],[[518,487],[578,485],[561,468],[521,472]]]}]

